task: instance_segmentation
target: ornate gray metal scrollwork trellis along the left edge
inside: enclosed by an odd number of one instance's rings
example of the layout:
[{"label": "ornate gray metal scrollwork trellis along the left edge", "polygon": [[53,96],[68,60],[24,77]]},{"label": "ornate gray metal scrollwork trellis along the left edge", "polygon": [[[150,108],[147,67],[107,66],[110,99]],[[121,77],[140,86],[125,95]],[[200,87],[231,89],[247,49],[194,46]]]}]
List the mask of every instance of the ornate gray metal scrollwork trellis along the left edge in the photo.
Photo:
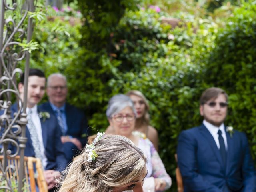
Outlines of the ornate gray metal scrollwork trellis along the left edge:
[{"label": "ornate gray metal scrollwork trellis along the left edge", "polygon": [[[32,18],[29,12],[34,12],[34,0],[0,0],[0,154],[4,156],[0,162],[0,191],[14,191],[14,186],[7,176],[7,170],[12,170],[7,158],[20,155],[19,177],[16,178],[18,191],[22,191],[24,176],[24,148],[26,144],[25,127],[28,68],[30,55],[22,47],[23,41],[30,42],[32,36]],[[19,5],[19,3],[23,3]],[[25,60],[24,102],[21,101],[16,77],[22,73],[17,68],[19,62]],[[16,113],[11,113],[15,100],[22,107]],[[11,151],[9,148],[15,148]],[[14,170],[14,169],[13,169]]]}]

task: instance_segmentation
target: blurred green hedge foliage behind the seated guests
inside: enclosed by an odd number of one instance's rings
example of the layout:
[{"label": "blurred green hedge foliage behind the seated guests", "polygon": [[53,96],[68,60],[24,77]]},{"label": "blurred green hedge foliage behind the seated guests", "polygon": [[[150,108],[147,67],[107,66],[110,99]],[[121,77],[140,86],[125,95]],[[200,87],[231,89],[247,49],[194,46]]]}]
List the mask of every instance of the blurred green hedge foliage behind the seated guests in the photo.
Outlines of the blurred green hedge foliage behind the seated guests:
[{"label": "blurred green hedge foliage behind the seated guests", "polygon": [[[211,12],[206,2],[189,0],[172,9],[170,1],[70,2],[82,19],[57,13],[41,21],[34,39],[44,51],[32,52],[31,65],[67,76],[68,102],[84,109],[90,126],[105,130],[114,94],[143,92],[173,180],[168,191],[176,191],[178,134],[201,124],[199,97],[218,86],[230,95],[226,124],[247,133],[256,158],[255,2],[222,2]],[[177,27],[166,22],[172,16],[180,19]]]}]

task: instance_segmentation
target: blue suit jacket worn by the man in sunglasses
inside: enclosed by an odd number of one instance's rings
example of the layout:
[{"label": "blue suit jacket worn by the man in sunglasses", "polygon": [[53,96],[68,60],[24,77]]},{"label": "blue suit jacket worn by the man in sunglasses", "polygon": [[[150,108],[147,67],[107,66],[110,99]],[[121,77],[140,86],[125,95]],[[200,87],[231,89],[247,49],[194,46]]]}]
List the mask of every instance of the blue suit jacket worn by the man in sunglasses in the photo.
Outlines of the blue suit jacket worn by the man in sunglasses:
[{"label": "blue suit jacket worn by the man in sunglasses", "polygon": [[226,132],[228,151],[224,166],[216,142],[202,124],[181,132],[178,138],[178,166],[184,192],[256,192],[256,171],[248,140],[242,132]]}]

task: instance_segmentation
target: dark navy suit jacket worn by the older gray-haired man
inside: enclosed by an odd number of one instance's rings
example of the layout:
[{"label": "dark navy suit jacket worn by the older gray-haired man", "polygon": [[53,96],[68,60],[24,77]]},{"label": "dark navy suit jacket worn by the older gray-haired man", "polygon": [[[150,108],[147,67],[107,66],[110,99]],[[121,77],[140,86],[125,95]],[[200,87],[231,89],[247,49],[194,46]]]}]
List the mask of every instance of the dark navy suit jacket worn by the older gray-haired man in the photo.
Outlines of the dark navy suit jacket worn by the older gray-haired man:
[{"label": "dark navy suit jacket worn by the older gray-haired man", "polygon": [[[50,112],[55,116],[55,113],[49,102],[41,104],[40,108]],[[67,135],[77,138],[84,147],[87,143],[87,136],[89,134],[89,129],[87,126],[87,121],[84,112],[68,103],[66,103],[65,112],[68,126]]]}]

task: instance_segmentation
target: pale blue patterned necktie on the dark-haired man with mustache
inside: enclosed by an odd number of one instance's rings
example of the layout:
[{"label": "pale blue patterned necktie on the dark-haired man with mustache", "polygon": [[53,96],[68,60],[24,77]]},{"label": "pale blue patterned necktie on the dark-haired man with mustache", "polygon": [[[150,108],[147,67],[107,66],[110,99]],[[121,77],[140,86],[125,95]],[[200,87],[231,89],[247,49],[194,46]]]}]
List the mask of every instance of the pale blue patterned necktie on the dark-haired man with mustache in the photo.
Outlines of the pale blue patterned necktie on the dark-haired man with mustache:
[{"label": "pale blue patterned necktie on the dark-haired man with mustache", "polygon": [[34,152],[36,154],[36,158],[40,158],[42,160],[41,150],[40,150],[40,142],[38,138],[38,134],[36,132],[36,126],[34,125],[32,121],[32,110],[29,110],[28,112],[28,131],[30,133],[30,138],[32,140],[32,146],[34,148]]}]

